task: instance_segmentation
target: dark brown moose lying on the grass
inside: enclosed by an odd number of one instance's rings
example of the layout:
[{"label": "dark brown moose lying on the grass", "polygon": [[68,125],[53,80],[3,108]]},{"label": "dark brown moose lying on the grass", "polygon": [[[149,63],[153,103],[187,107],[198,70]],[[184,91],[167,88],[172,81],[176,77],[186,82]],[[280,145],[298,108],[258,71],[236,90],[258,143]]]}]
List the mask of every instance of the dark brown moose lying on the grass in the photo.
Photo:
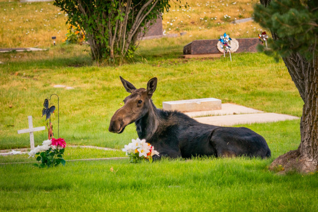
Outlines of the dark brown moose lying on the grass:
[{"label": "dark brown moose lying on the grass", "polygon": [[137,89],[122,77],[120,79],[131,94],[113,115],[109,131],[122,133],[134,122],[138,137],[160,152],[154,159],[162,156],[271,156],[266,140],[248,128],[202,124],[181,112],[157,109],[151,99],[157,78],[150,79],[146,89]]}]

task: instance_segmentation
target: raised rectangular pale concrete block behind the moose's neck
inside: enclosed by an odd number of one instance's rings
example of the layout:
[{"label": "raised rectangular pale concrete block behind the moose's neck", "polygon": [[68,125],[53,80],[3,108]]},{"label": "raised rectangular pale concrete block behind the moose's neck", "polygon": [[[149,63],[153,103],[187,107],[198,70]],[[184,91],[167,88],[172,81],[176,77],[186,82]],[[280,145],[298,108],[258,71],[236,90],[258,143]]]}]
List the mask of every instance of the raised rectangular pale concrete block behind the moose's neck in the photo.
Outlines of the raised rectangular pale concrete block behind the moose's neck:
[{"label": "raised rectangular pale concrete block behind the moose's neck", "polygon": [[178,101],[164,101],[163,109],[167,111],[193,112],[222,109],[222,101],[217,98],[197,98]]}]

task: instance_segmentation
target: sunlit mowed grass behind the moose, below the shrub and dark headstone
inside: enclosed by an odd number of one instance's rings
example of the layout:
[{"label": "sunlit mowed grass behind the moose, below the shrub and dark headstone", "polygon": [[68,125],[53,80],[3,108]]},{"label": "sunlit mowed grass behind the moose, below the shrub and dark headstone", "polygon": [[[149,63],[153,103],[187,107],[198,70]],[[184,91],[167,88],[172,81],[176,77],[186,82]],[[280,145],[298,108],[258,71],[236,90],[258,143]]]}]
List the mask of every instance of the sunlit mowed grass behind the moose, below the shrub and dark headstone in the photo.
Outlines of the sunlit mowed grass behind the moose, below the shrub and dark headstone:
[{"label": "sunlit mowed grass behind the moose, below the shrub and dark headstone", "polygon": [[[140,47],[140,55],[145,48]],[[52,93],[60,97],[60,137],[69,144],[122,148],[132,138],[137,138],[137,134],[133,125],[120,135],[108,132],[112,115],[128,95],[119,76],[138,88],[146,87],[150,78],[157,77],[152,99],[158,108],[162,108],[163,101],[216,97],[224,103],[301,116],[303,103],[283,62],[274,63],[272,58],[262,54],[233,55],[232,63],[228,58],[184,60],[150,55],[146,61],[134,64],[100,67],[90,65],[85,54],[69,54],[71,49],[72,46],[58,46],[42,52],[42,59],[38,59],[39,52],[5,54],[8,62],[2,65],[0,73],[0,148],[29,146],[29,135],[17,134],[17,130],[28,127],[27,116],[30,115],[34,127],[45,125],[41,111],[44,99]],[[81,51],[81,48],[73,49]],[[177,51],[172,52],[176,54]],[[54,57],[48,57],[51,54]],[[20,61],[19,56],[25,55],[29,60]],[[80,67],[75,66],[77,61]],[[74,89],[54,88],[55,84]],[[52,97],[51,103],[57,107],[56,97]],[[56,134],[57,112],[51,119]],[[36,145],[46,136],[47,132],[35,132]]]}]

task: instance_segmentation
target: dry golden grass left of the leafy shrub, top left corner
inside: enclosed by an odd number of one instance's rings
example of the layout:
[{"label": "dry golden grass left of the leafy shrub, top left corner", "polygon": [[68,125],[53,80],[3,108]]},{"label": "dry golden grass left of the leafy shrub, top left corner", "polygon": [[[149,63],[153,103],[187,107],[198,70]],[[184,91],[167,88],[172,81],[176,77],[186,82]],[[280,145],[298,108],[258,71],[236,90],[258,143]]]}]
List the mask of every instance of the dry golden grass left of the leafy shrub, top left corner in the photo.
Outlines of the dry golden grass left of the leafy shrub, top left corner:
[{"label": "dry golden grass left of the leafy shrub, top left corner", "polygon": [[52,45],[52,36],[60,43],[67,32],[66,16],[53,2],[0,2],[0,48]]}]

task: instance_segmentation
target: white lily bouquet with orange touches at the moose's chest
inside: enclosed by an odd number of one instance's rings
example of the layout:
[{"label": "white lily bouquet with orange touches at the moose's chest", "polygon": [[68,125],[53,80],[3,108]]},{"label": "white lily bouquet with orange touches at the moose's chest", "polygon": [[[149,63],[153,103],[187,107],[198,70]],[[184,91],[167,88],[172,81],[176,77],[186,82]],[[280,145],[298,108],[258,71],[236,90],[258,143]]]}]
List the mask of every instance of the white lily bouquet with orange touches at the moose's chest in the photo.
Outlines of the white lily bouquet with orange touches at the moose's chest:
[{"label": "white lily bouquet with orange touches at the moose's chest", "polygon": [[159,152],[153,149],[153,146],[150,143],[147,143],[145,139],[136,140],[132,139],[131,143],[125,145],[125,148],[122,149],[126,152],[126,155],[129,155],[130,163],[139,163],[141,161],[148,160],[152,163],[152,156],[158,155]]}]

